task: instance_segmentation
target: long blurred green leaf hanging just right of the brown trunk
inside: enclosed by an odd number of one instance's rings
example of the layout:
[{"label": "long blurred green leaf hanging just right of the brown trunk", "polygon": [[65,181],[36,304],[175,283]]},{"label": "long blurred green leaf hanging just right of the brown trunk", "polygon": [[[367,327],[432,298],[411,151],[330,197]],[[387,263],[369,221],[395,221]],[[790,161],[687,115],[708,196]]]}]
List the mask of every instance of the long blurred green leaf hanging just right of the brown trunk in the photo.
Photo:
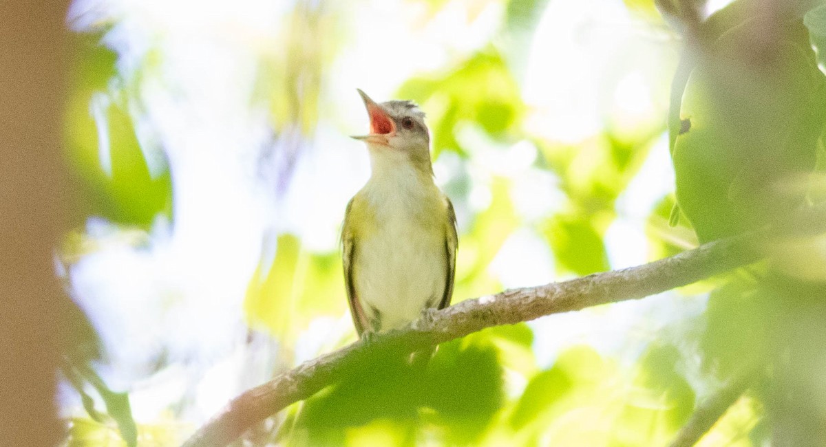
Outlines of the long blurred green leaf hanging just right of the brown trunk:
[{"label": "long blurred green leaf hanging just right of the brown trunk", "polygon": [[[148,228],[159,213],[169,213],[169,172],[150,172],[145,148],[135,129],[136,108],[121,88],[117,55],[100,43],[100,33],[76,35],[72,85],[66,107],[69,161],[78,186],[78,206],[85,219],[97,214],[120,224]],[[160,160],[163,163],[163,160]]]}]

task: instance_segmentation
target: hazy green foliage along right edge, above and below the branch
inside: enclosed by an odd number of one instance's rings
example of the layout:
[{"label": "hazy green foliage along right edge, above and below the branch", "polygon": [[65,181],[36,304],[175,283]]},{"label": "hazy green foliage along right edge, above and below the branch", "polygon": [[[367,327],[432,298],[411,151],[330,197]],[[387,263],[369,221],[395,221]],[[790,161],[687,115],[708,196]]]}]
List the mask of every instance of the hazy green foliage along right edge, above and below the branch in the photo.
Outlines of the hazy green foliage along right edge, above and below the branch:
[{"label": "hazy green foliage along right edge, above and below the branch", "polygon": [[[818,200],[813,172],[826,126],[826,79],[809,45],[817,45],[819,8],[801,20],[804,3],[767,10],[741,0],[708,21],[672,153],[676,198],[701,242],[782,224]],[[814,262],[813,269],[800,274],[771,260],[729,275],[705,313],[705,369],[723,379],[752,369],[770,378],[755,396],[769,417],[749,434],[755,445],[812,445],[826,433],[826,420],[816,416],[823,414],[816,390],[826,351],[809,341],[818,330],[805,323],[822,326],[824,275],[813,272],[826,266],[817,242],[807,241],[764,249]]]}]

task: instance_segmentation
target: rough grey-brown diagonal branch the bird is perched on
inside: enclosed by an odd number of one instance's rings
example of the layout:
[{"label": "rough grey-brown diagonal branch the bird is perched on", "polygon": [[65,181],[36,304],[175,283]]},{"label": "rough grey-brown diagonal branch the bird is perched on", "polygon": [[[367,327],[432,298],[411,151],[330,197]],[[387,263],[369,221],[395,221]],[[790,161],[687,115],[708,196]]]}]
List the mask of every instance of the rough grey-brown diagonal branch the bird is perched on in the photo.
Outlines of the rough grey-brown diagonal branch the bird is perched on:
[{"label": "rough grey-brown diagonal branch the bird is perched on", "polygon": [[404,329],[377,336],[369,346],[362,341],[355,342],[249,389],[233,399],[183,445],[227,445],[259,421],[311,397],[388,352],[420,351],[486,327],[525,322],[598,304],[641,299],[759,261],[764,255],[752,246],[754,240],[754,234],[723,239],[643,266],[468,299],[434,312],[430,318]]}]

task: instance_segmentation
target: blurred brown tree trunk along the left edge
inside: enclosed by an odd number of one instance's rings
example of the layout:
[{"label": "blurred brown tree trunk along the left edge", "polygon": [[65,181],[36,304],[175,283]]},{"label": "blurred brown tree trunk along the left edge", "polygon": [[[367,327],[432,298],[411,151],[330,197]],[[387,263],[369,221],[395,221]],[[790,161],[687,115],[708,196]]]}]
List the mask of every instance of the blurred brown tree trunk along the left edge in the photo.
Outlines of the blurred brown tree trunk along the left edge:
[{"label": "blurred brown tree trunk along the left edge", "polygon": [[66,3],[0,3],[0,445],[55,445]]}]

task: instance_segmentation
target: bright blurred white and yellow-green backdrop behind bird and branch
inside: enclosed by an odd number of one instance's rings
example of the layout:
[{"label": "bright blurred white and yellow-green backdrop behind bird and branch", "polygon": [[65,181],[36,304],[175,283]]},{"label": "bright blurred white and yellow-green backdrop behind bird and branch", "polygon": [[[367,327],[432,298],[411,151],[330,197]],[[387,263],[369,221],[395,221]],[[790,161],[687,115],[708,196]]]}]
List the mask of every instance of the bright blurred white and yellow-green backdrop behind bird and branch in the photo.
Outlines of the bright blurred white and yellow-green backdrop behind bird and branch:
[{"label": "bright blurred white and yellow-green backdrop behind bird and branch", "polygon": [[[178,445],[355,341],[338,238],[369,176],[357,87],[427,113],[454,303],[698,245],[669,225],[684,40],[653,0],[74,0],[65,26],[65,445]],[[704,361],[716,285],[479,332],[439,350],[428,407],[344,389],[246,442],[662,445],[724,383]],[[759,445],[764,422],[746,394],[700,445]]]}]

